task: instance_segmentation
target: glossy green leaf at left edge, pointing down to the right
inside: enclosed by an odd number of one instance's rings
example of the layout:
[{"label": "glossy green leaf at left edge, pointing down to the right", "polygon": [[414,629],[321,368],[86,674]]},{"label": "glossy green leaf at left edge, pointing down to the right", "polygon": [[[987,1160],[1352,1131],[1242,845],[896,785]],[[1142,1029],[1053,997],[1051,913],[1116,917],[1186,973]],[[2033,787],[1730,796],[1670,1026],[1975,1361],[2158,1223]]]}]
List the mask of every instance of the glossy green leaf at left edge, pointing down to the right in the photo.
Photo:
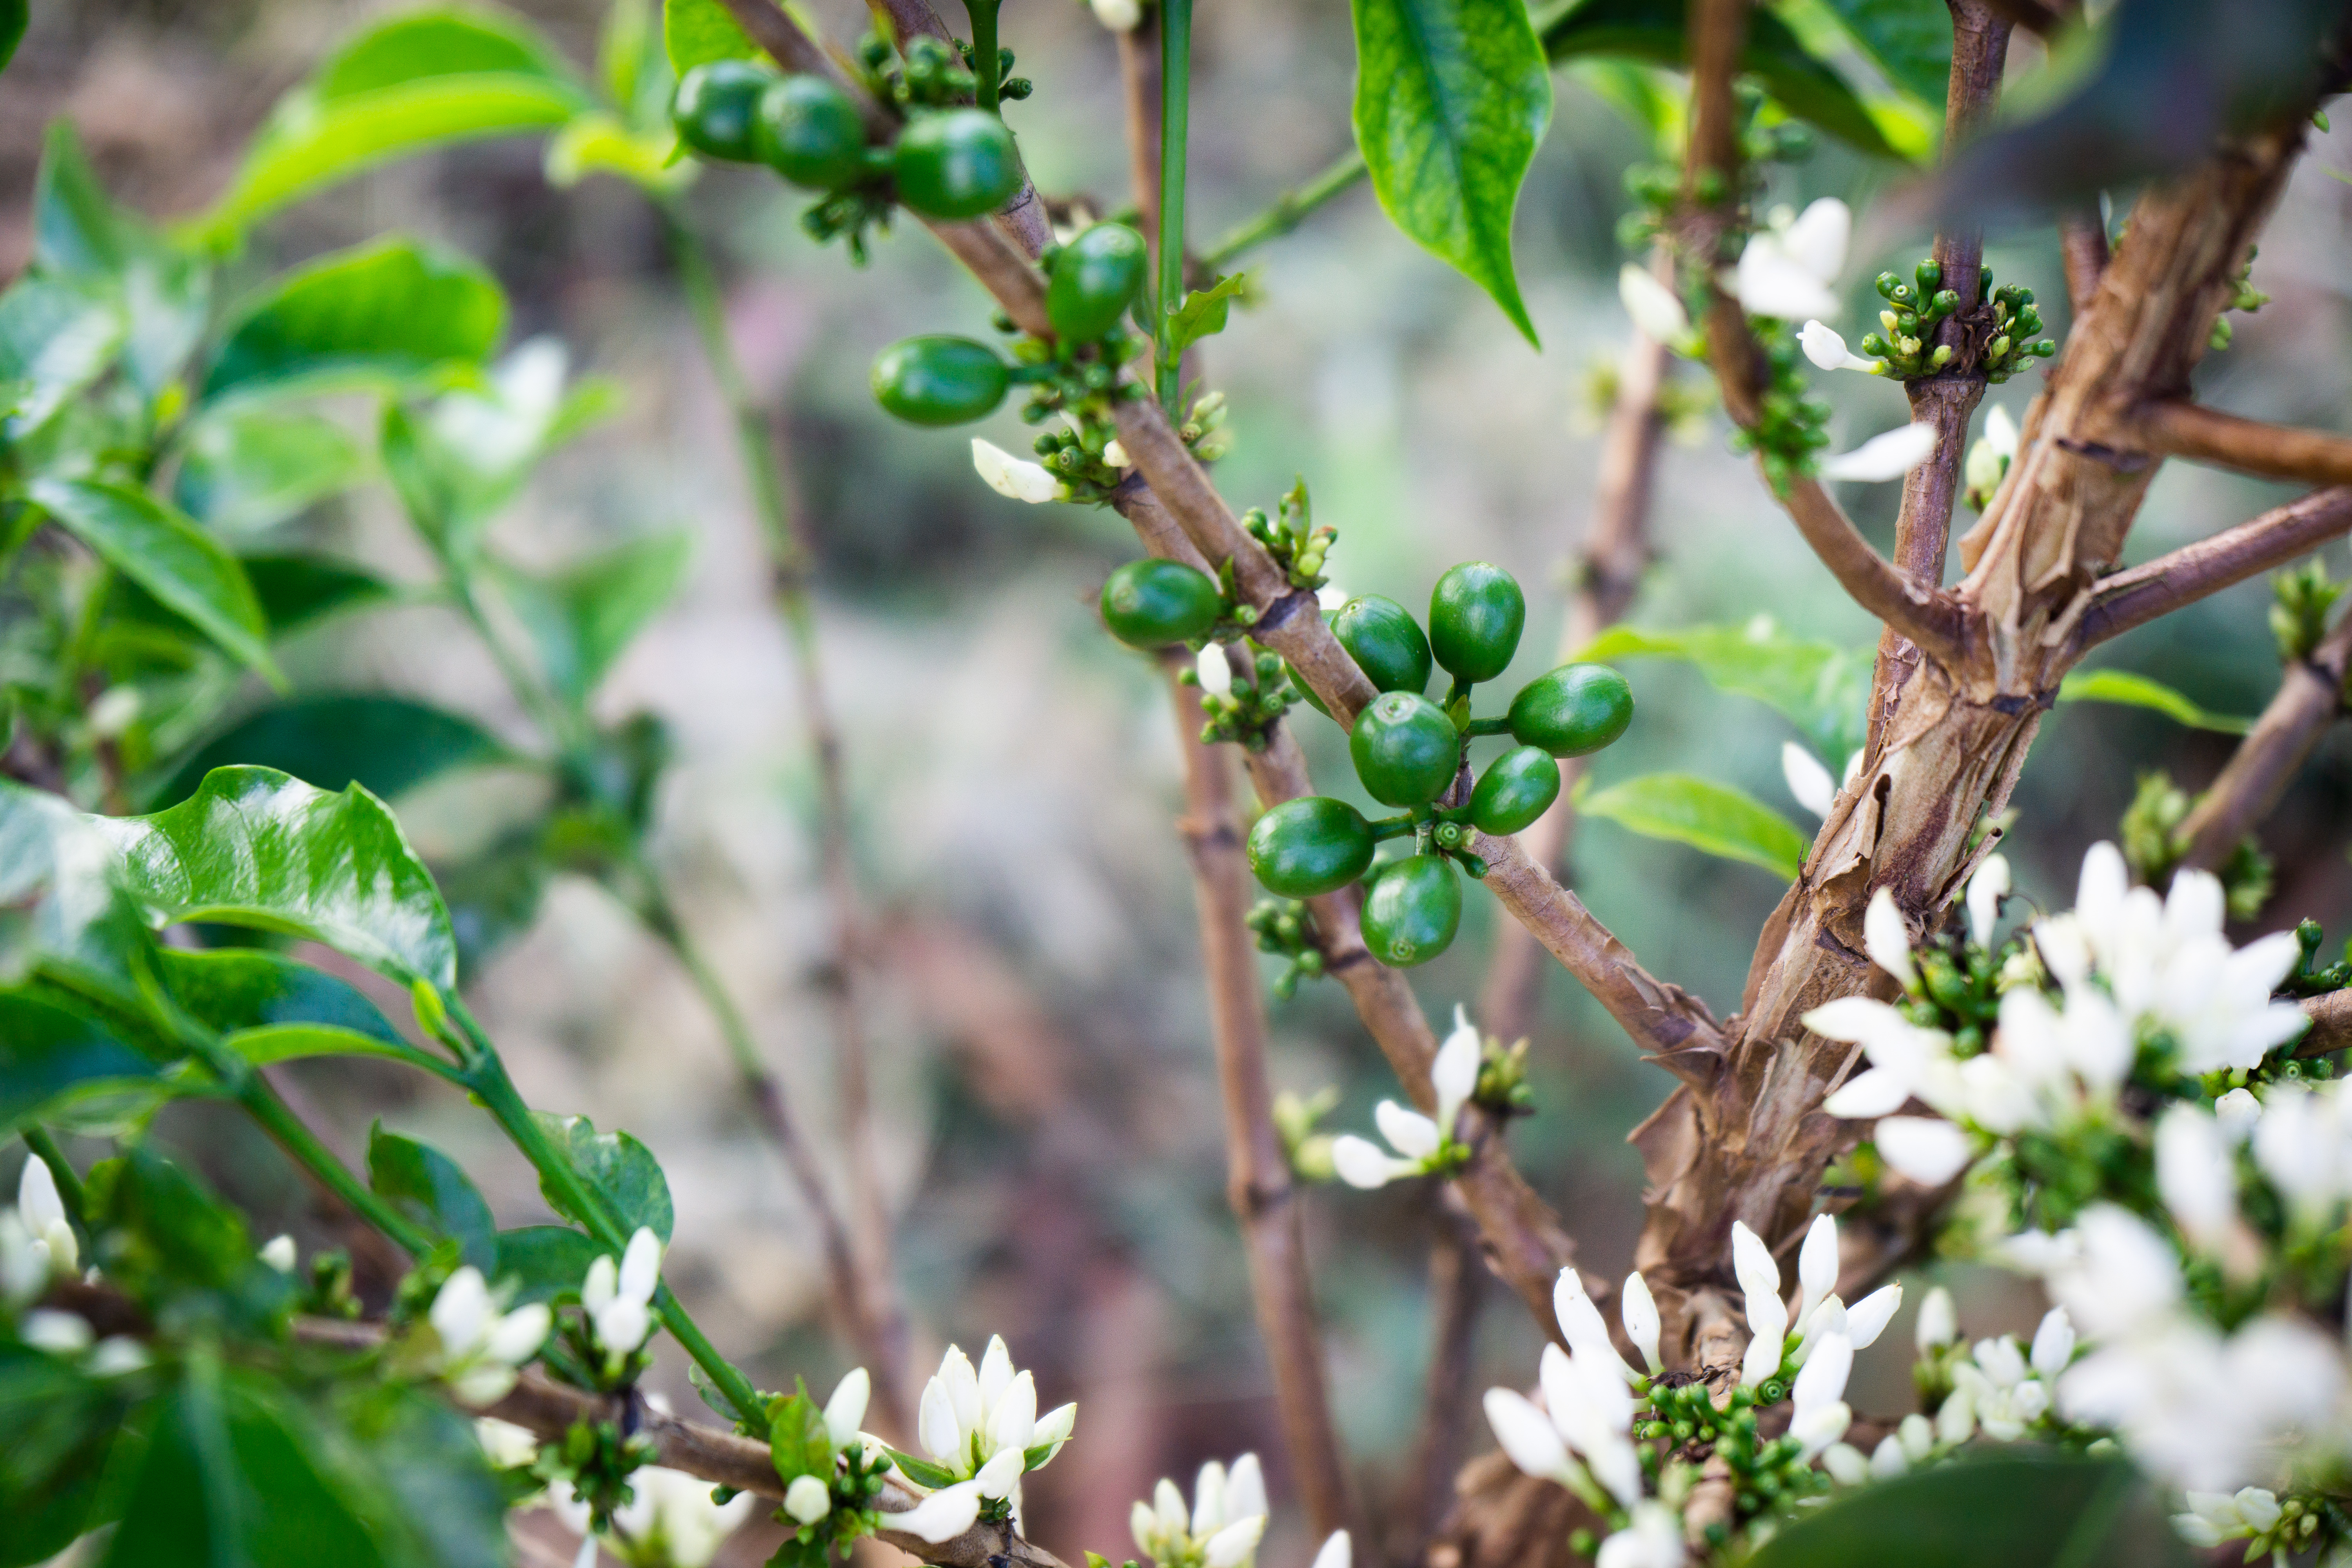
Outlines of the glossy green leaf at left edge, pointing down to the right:
[{"label": "glossy green leaf at left edge, pointing down to the right", "polygon": [[238,557],[176,508],[143,489],[92,480],[35,480],[40,510],[108,567],[212,637],[238,663],[282,679],[270,663],[268,621]]}]

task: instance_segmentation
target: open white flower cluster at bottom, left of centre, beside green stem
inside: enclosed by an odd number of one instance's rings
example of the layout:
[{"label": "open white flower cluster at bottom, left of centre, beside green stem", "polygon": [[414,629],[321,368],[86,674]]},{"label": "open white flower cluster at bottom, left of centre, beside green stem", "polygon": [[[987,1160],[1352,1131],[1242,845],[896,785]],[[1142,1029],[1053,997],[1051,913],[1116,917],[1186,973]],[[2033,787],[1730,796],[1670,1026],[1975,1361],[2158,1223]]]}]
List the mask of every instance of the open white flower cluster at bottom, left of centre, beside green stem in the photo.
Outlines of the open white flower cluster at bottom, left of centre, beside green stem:
[{"label": "open white flower cluster at bottom, left of centre, beside green stem", "polygon": [[[894,1514],[891,1528],[934,1542],[950,1540],[971,1528],[983,1500],[1011,1505],[1018,1519],[1021,1474],[1049,1465],[1070,1441],[1073,1427],[1075,1403],[1037,1415],[1037,1380],[1014,1371],[1002,1338],[988,1340],[978,1368],[950,1345],[938,1371],[922,1385],[915,1439],[955,1479],[906,1514]],[[1035,1448],[1044,1448],[1044,1455],[1030,1465],[1028,1453]]]}]

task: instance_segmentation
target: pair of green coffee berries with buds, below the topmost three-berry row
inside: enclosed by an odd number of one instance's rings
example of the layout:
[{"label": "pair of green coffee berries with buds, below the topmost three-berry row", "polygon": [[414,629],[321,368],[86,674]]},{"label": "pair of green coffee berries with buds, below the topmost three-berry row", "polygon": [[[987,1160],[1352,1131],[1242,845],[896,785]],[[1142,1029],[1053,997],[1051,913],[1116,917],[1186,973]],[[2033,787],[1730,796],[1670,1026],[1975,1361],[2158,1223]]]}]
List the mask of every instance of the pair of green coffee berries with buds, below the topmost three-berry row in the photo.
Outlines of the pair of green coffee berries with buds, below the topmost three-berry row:
[{"label": "pair of green coffee berries with buds, below the topmost three-berry row", "polygon": [[[1068,244],[1049,249],[1042,266],[1044,310],[1054,324],[1051,346],[1025,339],[1007,360],[988,343],[943,331],[901,339],[875,357],[875,400],[913,425],[964,425],[985,418],[1014,386],[1042,393],[1030,409],[1035,418],[1075,402],[1108,400],[1124,357],[1120,322],[1143,287],[1143,235],[1127,223],[1096,223]],[[1080,350],[1089,346],[1103,346],[1103,353],[1082,360]],[[1051,447],[1047,442],[1037,447],[1040,456],[1061,449],[1058,437]],[[1101,456],[1098,444],[1091,456]]]}]

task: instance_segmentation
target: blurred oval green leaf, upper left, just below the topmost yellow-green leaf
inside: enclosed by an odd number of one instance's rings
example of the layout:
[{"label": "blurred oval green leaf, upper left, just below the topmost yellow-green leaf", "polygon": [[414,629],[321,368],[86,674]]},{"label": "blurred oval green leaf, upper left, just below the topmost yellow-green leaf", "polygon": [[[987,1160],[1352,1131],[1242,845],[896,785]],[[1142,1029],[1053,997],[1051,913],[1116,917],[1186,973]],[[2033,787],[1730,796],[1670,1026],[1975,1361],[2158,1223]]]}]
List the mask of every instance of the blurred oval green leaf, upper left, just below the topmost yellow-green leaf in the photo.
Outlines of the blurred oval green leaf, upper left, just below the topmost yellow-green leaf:
[{"label": "blurred oval green leaf, upper left, just below the topmost yellow-green leaf", "polygon": [[402,386],[480,364],[506,294],[477,263],[390,237],[322,256],[245,306],[205,376],[228,393]]}]

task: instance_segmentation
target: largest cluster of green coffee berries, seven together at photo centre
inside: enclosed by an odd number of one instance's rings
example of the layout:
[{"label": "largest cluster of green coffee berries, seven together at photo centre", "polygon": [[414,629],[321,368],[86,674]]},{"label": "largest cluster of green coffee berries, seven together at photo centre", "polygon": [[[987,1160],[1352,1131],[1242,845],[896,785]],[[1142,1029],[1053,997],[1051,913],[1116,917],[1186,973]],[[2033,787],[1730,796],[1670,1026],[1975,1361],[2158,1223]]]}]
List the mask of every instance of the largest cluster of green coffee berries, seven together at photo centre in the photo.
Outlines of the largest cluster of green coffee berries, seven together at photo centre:
[{"label": "largest cluster of green coffee berries, seven together at photo centre", "polygon": [[[1348,731],[1355,776],[1376,802],[1404,811],[1367,820],[1327,795],[1282,802],[1249,830],[1249,867],[1265,891],[1315,898],[1362,877],[1364,945],[1395,969],[1425,964],[1454,943],[1463,912],[1454,865],[1486,875],[1470,851],[1475,835],[1503,837],[1534,823],[1559,797],[1557,759],[1597,752],[1632,722],[1625,677],[1573,663],[1522,686],[1503,717],[1472,717],[1472,686],[1510,665],[1524,625],[1519,583],[1486,562],[1437,578],[1428,632],[1378,595],[1334,611],[1331,635],[1381,691]],[[1425,696],[1432,665],[1451,675],[1444,703]],[[1322,710],[1312,691],[1305,696]],[[1505,733],[1517,745],[1468,785],[1470,741]],[[1374,849],[1402,837],[1414,839],[1414,853],[1374,865]]]}]

